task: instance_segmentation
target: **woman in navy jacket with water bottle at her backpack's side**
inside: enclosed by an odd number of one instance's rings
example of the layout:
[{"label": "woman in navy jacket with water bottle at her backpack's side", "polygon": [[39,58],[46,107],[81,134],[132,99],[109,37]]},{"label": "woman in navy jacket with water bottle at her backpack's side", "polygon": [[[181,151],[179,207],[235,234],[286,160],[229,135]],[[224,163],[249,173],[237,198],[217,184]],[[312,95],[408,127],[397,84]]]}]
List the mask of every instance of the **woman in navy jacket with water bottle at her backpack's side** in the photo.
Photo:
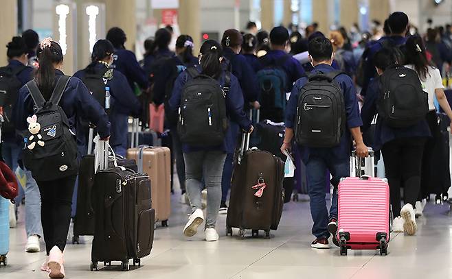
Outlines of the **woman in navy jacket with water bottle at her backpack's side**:
[{"label": "woman in navy jacket with water bottle at her backpack's side", "polygon": [[[114,51],[109,40],[98,40],[93,47],[91,63],[85,69],[75,73],[74,77],[80,78],[91,92],[93,90],[101,91],[95,95],[105,94],[105,88],[109,88],[111,95],[108,109],[111,122],[110,145],[116,154],[126,156],[128,116],[139,117],[141,105],[131,87],[128,86],[126,77],[120,71],[115,71],[110,67]],[[93,83],[104,84],[104,86],[95,86]],[[101,106],[105,108],[105,104],[101,104]],[[87,130],[86,126],[77,130],[80,155],[87,152]]]}]

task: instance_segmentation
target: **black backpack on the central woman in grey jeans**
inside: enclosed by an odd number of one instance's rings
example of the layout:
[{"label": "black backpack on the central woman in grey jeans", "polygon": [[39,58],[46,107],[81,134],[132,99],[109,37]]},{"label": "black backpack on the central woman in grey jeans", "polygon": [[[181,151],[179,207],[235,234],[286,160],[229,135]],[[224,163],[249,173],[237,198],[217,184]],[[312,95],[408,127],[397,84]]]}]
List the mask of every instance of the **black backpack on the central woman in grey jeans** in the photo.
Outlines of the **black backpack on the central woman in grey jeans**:
[{"label": "black backpack on the central woman in grey jeans", "polygon": [[226,72],[225,86],[221,88],[217,80],[199,74],[195,68],[187,71],[192,80],[182,89],[177,125],[181,142],[194,146],[221,145],[228,127],[226,94],[231,84],[230,73]]}]

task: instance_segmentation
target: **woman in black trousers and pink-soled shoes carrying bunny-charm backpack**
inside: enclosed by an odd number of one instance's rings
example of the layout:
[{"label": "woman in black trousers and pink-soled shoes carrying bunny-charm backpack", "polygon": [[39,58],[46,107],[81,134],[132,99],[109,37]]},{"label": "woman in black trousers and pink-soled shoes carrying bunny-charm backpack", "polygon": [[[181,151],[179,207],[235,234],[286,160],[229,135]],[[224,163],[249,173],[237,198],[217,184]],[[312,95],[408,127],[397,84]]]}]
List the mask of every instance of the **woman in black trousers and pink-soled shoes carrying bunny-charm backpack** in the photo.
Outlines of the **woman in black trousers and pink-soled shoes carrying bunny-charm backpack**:
[{"label": "woman in black trousers and pink-soled shoes carrying bunny-charm backpack", "polygon": [[[64,75],[61,71],[63,51],[52,38],[45,38],[39,45],[37,54],[39,69],[35,73],[34,80],[45,101],[49,101],[56,82]],[[109,138],[110,122],[106,112],[77,77],[70,77],[68,80],[58,106],[63,109],[64,114],[69,119],[69,129],[72,134],[75,134],[76,119],[84,117],[96,125],[102,140],[105,141]],[[16,130],[26,131],[28,127],[27,118],[34,115],[35,112],[36,104],[32,99],[30,90],[27,86],[23,86],[19,91],[19,97],[13,110]],[[30,161],[29,164],[32,164],[32,162],[34,161]],[[29,166],[27,165],[27,167]],[[67,168],[60,169],[60,171],[66,170]],[[60,174],[61,178],[58,177],[53,180],[52,178],[47,178],[46,181],[36,179],[41,193],[41,221],[48,256],[41,270],[47,271],[50,278],[63,278],[65,276],[63,251],[65,250],[67,232],[71,221],[71,204],[76,171],[76,169],[72,169],[67,175]],[[32,171],[34,177],[38,177],[39,174]]]}]

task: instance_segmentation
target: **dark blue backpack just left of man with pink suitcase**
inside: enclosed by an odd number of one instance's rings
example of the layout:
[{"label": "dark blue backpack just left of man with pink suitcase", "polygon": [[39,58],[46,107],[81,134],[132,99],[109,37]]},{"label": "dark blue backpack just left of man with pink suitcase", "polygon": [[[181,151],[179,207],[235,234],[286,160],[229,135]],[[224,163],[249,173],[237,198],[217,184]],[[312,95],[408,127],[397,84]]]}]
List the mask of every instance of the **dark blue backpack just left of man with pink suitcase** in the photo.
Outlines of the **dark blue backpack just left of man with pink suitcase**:
[{"label": "dark blue backpack just left of man with pink suitcase", "polygon": [[282,65],[290,58],[289,55],[282,56],[278,60],[271,61],[257,73],[260,88],[260,113],[264,119],[284,122],[288,78]]}]

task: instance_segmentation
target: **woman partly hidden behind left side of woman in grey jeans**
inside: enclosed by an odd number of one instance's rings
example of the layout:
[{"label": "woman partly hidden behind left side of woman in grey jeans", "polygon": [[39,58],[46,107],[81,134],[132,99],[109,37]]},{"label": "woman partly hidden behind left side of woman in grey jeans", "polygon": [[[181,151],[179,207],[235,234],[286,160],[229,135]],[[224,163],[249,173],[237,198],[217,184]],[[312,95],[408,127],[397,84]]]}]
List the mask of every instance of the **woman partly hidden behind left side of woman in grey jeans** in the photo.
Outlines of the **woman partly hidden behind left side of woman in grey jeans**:
[{"label": "woman partly hidden behind left side of woman in grey jeans", "polygon": [[171,98],[174,81],[182,71],[198,64],[198,58],[193,56],[193,38],[190,35],[181,35],[176,40],[176,56],[161,65],[160,71],[155,75],[153,99],[155,106],[165,104],[166,125],[170,128],[172,138],[171,152],[176,159],[177,176],[181,184],[181,202],[185,203],[185,163],[183,162],[182,145],[177,133],[177,113],[169,109],[168,100]]}]

